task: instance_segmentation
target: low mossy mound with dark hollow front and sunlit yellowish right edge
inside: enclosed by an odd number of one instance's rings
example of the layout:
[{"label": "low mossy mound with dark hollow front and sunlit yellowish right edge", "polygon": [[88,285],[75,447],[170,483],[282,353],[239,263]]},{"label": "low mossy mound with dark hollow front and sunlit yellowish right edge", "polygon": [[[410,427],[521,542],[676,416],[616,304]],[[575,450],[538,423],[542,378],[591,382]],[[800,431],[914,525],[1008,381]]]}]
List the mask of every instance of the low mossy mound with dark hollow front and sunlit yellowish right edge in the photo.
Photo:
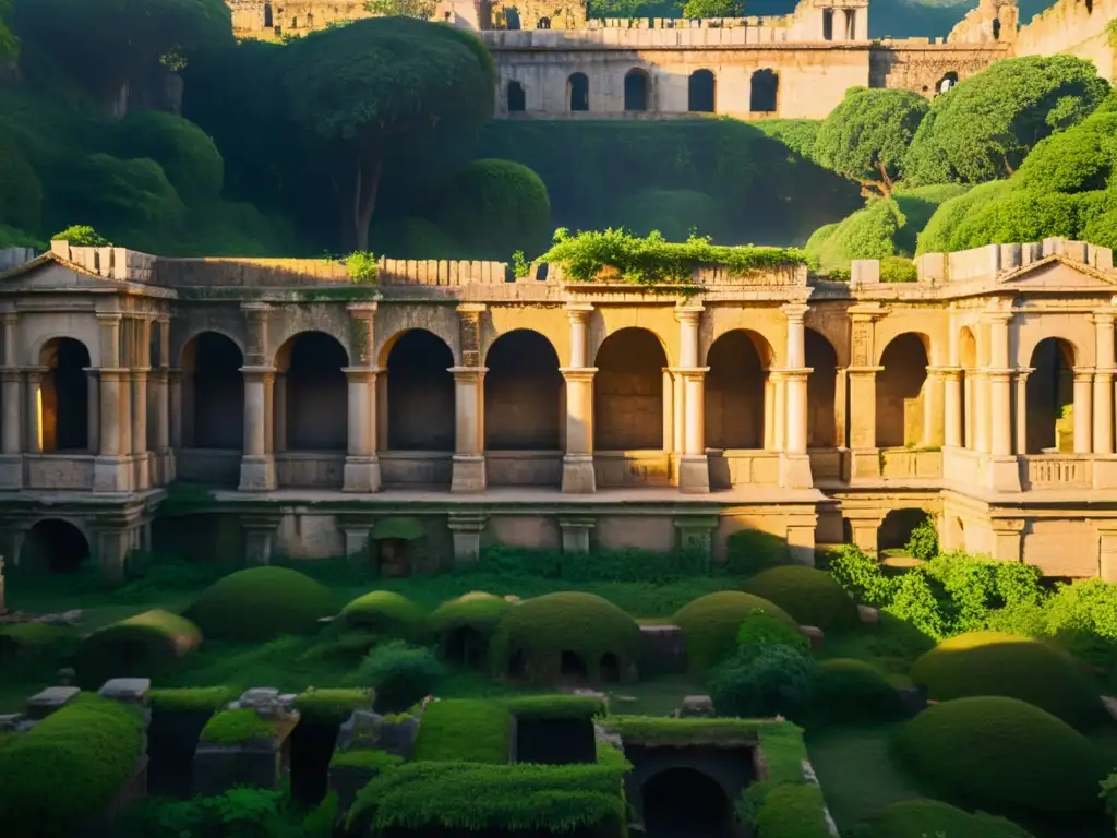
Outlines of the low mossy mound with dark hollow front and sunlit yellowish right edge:
[{"label": "low mossy mound with dark hollow front and sunlit yellowish right edge", "polygon": [[82,641],[75,669],[93,688],[108,678],[150,677],[173,668],[201,641],[193,622],[155,609],[94,631]]}]

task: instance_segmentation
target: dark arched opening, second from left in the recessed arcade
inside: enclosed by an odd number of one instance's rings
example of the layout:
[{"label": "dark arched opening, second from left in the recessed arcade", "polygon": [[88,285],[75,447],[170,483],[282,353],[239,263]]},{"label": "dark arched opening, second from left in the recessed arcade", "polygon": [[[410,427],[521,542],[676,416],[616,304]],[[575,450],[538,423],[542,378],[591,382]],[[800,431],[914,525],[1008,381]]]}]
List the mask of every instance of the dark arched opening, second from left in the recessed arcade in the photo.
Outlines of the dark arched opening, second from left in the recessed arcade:
[{"label": "dark arched opening, second from left in the recessed arcade", "polygon": [[324,332],[302,332],[276,354],[280,404],[276,437],[294,451],[344,451],[349,446],[349,355]]}]

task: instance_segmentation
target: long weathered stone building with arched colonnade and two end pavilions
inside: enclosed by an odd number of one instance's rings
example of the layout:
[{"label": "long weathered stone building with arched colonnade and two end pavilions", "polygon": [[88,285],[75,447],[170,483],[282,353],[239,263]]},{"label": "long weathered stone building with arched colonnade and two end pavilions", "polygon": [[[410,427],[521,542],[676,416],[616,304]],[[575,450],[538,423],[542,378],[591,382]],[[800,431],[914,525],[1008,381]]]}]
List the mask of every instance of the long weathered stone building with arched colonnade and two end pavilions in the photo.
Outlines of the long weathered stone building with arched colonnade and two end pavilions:
[{"label": "long weathered stone building with arched colonnade and two end pavilions", "polygon": [[323,260],[17,256],[13,561],[118,572],[153,530],[193,545],[216,518],[249,561],[366,555],[408,515],[459,562],[496,542],[719,559],[742,527],[810,562],[930,513],[947,549],[1117,580],[1106,248],[930,254],[900,285],[876,261],[849,284],[704,270],[690,296],[496,263],[384,260],[363,285]]}]

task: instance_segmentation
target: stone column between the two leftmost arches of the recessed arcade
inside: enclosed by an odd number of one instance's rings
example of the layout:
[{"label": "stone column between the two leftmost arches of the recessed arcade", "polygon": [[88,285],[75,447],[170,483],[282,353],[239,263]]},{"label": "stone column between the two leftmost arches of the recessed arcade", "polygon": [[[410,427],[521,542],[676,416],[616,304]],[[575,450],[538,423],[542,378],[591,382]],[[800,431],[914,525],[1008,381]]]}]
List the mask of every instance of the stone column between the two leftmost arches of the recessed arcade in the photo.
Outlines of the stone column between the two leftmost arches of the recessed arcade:
[{"label": "stone column between the two leftmost arches of the recessed arcade", "polygon": [[271,306],[267,303],[241,303],[240,311],[245,314],[248,328],[245,365],[240,369],[245,377],[245,438],[239,489],[271,492],[276,488],[275,457],[267,445],[267,425],[274,420],[269,397],[273,394],[275,368],[268,346]]}]

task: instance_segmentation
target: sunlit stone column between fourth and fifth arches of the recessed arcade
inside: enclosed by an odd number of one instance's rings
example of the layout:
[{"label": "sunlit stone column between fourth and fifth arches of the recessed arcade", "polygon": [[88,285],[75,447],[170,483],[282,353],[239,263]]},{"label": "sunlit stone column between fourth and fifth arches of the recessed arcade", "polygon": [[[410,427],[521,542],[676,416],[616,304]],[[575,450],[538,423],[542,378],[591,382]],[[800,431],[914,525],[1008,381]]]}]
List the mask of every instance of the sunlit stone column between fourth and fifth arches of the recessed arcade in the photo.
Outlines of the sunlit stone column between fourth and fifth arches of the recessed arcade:
[{"label": "sunlit stone column between fourth and fifth arches of the recessed arcade", "polygon": [[[593,375],[595,366],[588,366],[590,353],[590,315],[593,306],[571,303],[566,306],[570,317],[570,365],[560,370],[566,380],[566,453],[562,460],[562,491],[567,494],[592,494],[598,480],[593,472]],[[678,377],[676,377],[678,378]],[[681,381],[676,392],[681,390]],[[679,400],[685,402],[684,399]],[[681,404],[676,407],[679,417]],[[681,444],[681,427],[676,423],[676,439]],[[680,446],[681,448],[681,446]]]}]

